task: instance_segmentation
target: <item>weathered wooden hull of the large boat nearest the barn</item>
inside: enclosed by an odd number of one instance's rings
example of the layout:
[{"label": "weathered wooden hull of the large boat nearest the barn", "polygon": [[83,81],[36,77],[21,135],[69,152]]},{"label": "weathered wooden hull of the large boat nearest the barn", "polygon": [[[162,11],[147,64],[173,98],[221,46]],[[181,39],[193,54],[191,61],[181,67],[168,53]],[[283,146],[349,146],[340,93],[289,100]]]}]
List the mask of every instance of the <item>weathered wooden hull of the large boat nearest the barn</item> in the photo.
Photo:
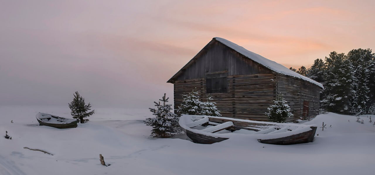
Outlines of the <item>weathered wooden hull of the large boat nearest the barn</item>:
[{"label": "weathered wooden hull of the large boat nearest the barn", "polygon": [[[233,122],[233,126],[229,128],[230,131],[236,131],[239,129],[248,129],[258,132],[258,134],[253,135],[253,137],[244,137],[247,139],[256,138],[260,143],[265,144],[277,144],[277,145],[290,145],[290,144],[300,144],[309,143],[314,140],[315,132],[317,130],[316,125],[297,125],[297,124],[279,124],[273,122],[259,122],[250,121],[242,119],[231,119],[223,117],[212,117],[212,116],[193,116],[193,115],[183,115],[180,118],[179,124],[186,132],[187,137],[189,137],[194,143],[199,144],[212,144],[223,140],[229,139],[233,134],[218,134],[214,132],[205,132],[204,129],[192,129],[197,126],[197,124],[205,124],[205,122],[213,122],[215,126],[225,124],[225,122]],[[212,127],[215,127],[212,126]],[[272,131],[275,129],[276,131]],[[190,128],[192,127],[192,128]],[[274,128],[273,128],[274,127]],[[298,130],[290,130],[289,127],[297,127]],[[268,129],[264,129],[268,128]],[[262,130],[263,129],[263,130]],[[271,129],[271,130],[270,130]],[[280,131],[278,131],[281,129]],[[296,128],[294,128],[296,129]],[[269,130],[269,131],[267,131]],[[263,133],[259,133],[262,132]],[[279,134],[280,132],[289,132],[290,134]],[[273,133],[276,132],[276,133]],[[275,134],[275,135],[274,135]],[[269,136],[266,136],[269,135]],[[273,135],[273,137],[271,136]],[[263,139],[264,138],[264,139]],[[266,139],[267,138],[267,139]]]}]

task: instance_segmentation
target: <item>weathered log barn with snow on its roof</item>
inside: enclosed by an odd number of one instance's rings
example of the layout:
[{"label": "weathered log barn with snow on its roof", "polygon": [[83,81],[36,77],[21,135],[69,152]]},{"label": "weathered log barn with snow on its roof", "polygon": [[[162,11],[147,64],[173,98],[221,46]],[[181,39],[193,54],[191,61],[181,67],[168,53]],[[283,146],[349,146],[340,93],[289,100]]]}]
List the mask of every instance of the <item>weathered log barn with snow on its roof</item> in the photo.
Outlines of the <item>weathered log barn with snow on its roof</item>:
[{"label": "weathered log barn with snow on its roof", "polygon": [[284,94],[293,119],[316,116],[323,85],[223,38],[213,38],[167,82],[174,84],[174,109],[193,89],[210,94],[223,117],[267,121],[267,107]]}]

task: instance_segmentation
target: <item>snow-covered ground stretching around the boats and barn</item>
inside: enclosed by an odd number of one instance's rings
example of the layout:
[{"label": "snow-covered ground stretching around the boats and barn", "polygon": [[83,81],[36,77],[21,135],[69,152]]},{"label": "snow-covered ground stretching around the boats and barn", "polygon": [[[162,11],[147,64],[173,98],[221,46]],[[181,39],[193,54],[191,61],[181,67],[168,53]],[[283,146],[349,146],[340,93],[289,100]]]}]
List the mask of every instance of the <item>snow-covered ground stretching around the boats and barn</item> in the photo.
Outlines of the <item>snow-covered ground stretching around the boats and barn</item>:
[{"label": "snow-covered ground stretching around the boats and barn", "polygon": [[[375,116],[328,113],[304,124],[318,128],[315,141],[279,146],[231,138],[211,145],[180,138],[149,138],[146,109],[95,109],[77,128],[39,126],[37,112],[70,117],[66,107],[1,106],[0,174],[374,174]],[[10,121],[13,120],[13,123]],[[332,125],[332,127],[330,127]],[[23,149],[41,149],[39,151]],[[99,154],[106,163],[100,165]]]}]

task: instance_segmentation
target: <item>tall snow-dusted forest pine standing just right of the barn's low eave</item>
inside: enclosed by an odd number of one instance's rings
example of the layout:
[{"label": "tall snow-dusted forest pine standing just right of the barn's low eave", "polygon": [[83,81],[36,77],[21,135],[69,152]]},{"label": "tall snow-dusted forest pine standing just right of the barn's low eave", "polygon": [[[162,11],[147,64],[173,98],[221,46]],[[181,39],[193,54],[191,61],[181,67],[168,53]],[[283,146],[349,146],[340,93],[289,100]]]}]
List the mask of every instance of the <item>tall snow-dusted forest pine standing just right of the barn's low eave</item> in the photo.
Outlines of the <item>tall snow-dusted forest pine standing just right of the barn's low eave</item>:
[{"label": "tall snow-dusted forest pine standing just right of the barn's low eave", "polygon": [[324,99],[321,101],[329,112],[349,114],[352,91],[352,66],[344,53],[333,51],[326,57]]}]

